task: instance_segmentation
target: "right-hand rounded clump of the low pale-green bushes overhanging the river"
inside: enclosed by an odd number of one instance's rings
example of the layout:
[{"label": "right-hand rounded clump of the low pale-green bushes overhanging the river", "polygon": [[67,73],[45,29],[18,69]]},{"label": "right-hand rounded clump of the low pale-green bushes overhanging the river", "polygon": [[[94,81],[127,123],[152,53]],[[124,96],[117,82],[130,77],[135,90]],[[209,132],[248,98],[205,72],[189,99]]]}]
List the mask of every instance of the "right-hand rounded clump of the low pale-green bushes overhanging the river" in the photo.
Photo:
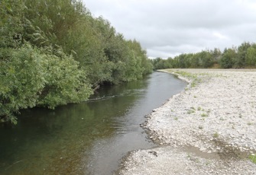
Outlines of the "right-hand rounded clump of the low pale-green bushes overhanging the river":
[{"label": "right-hand rounded clump of the low pale-green bushes overhanging the river", "polygon": [[42,65],[47,83],[37,105],[53,109],[58,105],[85,101],[92,94],[86,72],[79,69],[79,63],[72,56],[44,55]]}]

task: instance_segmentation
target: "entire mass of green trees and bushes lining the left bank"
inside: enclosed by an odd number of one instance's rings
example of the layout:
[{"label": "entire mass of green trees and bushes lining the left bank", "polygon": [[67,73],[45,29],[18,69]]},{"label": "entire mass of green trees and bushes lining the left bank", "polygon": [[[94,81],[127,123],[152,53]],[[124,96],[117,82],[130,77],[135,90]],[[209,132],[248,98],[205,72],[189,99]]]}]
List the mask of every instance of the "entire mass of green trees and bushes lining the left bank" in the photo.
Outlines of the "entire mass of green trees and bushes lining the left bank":
[{"label": "entire mass of green trees and bushes lining the left bank", "polygon": [[0,120],[88,99],[151,72],[146,52],[76,0],[0,2]]}]

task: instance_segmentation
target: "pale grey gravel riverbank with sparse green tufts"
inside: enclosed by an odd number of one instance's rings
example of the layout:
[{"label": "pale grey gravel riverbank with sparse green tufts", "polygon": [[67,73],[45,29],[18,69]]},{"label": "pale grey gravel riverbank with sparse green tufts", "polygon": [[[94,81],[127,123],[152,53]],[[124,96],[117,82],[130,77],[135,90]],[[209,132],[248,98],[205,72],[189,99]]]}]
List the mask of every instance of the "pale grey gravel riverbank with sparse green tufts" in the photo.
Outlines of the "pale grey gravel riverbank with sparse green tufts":
[{"label": "pale grey gravel riverbank with sparse green tufts", "polygon": [[129,153],[119,174],[256,174],[255,70],[168,71],[189,85],[143,124],[160,146]]}]

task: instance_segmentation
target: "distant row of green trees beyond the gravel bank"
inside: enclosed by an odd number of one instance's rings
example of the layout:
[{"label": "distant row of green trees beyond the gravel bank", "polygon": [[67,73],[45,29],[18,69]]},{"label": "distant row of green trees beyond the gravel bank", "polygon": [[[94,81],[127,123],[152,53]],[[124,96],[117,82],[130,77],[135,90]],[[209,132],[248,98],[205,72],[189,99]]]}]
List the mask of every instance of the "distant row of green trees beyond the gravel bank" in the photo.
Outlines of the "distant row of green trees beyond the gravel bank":
[{"label": "distant row of green trees beyond the gravel bank", "polygon": [[174,58],[153,59],[154,69],[161,68],[256,68],[256,43],[238,47],[184,53]]}]

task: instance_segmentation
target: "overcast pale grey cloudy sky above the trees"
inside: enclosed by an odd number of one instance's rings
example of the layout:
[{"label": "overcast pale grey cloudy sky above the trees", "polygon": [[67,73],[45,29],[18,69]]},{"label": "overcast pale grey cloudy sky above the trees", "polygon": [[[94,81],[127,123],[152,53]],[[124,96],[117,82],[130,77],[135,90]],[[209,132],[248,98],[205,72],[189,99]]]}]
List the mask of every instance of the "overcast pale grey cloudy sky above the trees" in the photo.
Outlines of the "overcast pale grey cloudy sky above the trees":
[{"label": "overcast pale grey cloudy sky above the trees", "polygon": [[255,0],[83,0],[150,58],[256,42]]}]

